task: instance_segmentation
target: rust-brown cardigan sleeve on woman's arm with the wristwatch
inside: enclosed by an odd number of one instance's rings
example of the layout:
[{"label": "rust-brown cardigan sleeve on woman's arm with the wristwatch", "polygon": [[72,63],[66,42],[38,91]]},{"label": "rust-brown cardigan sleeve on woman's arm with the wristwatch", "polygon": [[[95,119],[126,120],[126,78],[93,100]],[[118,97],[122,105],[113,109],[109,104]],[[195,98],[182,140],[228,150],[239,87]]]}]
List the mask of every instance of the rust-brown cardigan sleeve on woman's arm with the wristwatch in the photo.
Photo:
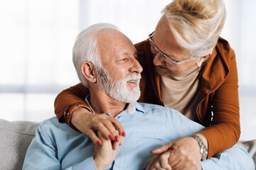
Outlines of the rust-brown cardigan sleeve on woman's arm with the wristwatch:
[{"label": "rust-brown cardigan sleeve on woman's arm with the wristwatch", "polygon": [[238,70],[235,52],[229,45],[220,46],[218,50],[220,55],[230,56],[230,60],[225,61],[229,66],[229,73],[225,81],[213,92],[211,103],[208,103],[213,113],[212,120],[210,126],[201,131],[208,140],[208,158],[232,147],[240,137]]}]

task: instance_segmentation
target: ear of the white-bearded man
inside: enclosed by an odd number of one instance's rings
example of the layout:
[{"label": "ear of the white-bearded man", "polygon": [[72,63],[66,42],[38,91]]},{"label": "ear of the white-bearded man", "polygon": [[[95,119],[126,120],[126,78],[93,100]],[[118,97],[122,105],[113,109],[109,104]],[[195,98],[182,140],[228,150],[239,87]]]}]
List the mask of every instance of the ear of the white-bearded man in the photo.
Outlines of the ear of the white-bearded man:
[{"label": "ear of the white-bearded man", "polygon": [[82,75],[87,79],[87,81],[95,83],[96,82],[96,71],[95,67],[91,62],[82,62],[81,64]]}]

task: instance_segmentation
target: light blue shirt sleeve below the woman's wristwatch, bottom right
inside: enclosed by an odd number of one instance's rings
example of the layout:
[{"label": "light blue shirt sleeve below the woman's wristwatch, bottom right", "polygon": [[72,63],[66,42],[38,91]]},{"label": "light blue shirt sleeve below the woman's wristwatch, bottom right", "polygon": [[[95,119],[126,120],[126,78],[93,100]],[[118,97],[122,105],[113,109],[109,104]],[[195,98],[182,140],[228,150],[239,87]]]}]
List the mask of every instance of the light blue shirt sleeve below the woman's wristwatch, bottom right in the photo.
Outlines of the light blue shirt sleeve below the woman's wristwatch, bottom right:
[{"label": "light blue shirt sleeve below the woman's wristwatch, bottom right", "polygon": [[235,145],[221,154],[201,162],[202,169],[255,169],[255,164],[245,148]]}]

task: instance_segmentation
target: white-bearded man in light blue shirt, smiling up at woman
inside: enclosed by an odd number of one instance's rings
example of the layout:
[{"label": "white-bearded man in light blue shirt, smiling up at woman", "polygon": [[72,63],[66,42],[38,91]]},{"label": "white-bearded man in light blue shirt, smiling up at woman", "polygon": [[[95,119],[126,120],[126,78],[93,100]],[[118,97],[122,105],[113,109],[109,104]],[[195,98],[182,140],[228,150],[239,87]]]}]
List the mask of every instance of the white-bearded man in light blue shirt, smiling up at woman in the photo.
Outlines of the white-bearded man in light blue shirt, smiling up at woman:
[{"label": "white-bearded man in light blue shirt, smiling up at woman", "polygon": [[[115,139],[105,139],[99,132],[102,143],[94,145],[87,135],[51,118],[38,125],[23,169],[145,169],[154,157],[149,153],[151,149],[204,129],[174,109],[136,102],[142,67],[132,42],[115,26],[102,23],[83,30],[73,48],[73,63],[80,81],[90,90],[85,98],[89,109],[119,120],[127,137],[119,138],[113,127]],[[170,169],[162,155],[154,157],[147,168],[161,164]],[[220,154],[219,159],[197,162],[189,169],[218,166],[254,168],[249,154],[235,146]]]}]

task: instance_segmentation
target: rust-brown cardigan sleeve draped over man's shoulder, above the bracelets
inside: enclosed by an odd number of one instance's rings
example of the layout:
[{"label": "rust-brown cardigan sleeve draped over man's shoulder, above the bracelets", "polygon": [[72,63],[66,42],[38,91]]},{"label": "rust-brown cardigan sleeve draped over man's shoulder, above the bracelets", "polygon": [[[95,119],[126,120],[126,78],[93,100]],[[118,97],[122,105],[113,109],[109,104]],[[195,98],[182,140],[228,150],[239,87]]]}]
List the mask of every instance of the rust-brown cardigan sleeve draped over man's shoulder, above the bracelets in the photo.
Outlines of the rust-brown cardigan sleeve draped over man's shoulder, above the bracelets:
[{"label": "rust-brown cardigan sleeve draped over man's shoulder, above the bracelets", "polygon": [[89,90],[81,83],[61,91],[54,101],[55,115],[57,116],[59,122],[65,122],[63,115],[65,111],[68,111],[69,106],[72,103],[80,103],[87,106],[85,103],[85,97],[88,94],[90,94]]}]

